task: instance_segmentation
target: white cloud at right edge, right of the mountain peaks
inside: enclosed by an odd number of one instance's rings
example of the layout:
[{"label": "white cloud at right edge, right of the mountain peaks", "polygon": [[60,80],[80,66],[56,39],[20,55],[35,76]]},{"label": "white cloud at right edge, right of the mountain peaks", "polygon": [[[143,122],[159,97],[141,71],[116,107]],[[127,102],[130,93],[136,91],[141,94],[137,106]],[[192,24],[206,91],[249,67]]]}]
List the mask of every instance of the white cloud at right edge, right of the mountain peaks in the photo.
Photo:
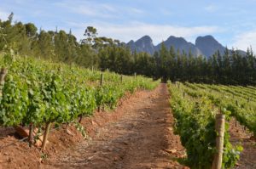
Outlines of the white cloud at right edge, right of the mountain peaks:
[{"label": "white cloud at right edge, right of the mountain peaks", "polygon": [[256,30],[243,32],[237,35],[232,46],[244,51],[247,51],[247,48],[251,46],[253,51],[256,51]]}]

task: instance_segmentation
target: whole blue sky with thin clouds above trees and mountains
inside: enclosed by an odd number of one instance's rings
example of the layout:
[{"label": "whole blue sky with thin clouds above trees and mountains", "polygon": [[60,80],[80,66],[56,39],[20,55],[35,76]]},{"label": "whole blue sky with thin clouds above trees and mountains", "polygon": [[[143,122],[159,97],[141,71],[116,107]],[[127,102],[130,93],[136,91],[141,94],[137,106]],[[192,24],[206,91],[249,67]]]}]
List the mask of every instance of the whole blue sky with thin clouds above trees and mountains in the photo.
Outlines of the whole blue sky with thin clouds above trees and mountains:
[{"label": "whole blue sky with thin clouds above trees and mountains", "polygon": [[14,12],[17,21],[71,29],[78,39],[88,25],[123,42],[149,35],[157,44],[172,35],[195,43],[212,35],[229,48],[256,51],[255,7],[256,0],[0,0],[0,19]]}]

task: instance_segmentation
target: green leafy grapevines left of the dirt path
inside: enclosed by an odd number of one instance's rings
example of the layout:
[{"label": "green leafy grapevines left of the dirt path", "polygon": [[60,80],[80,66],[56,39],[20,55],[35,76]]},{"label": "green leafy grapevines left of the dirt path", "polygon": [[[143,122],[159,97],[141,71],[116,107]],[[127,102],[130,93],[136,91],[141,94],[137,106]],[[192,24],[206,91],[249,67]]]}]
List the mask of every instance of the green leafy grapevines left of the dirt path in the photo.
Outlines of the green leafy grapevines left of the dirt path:
[{"label": "green leafy grapevines left of the dirt path", "polygon": [[51,123],[59,126],[78,118],[81,121],[96,109],[112,110],[125,93],[158,84],[142,76],[102,73],[12,54],[3,55],[0,63],[1,126],[29,126],[30,132],[33,127],[39,131],[43,127],[45,139]]}]

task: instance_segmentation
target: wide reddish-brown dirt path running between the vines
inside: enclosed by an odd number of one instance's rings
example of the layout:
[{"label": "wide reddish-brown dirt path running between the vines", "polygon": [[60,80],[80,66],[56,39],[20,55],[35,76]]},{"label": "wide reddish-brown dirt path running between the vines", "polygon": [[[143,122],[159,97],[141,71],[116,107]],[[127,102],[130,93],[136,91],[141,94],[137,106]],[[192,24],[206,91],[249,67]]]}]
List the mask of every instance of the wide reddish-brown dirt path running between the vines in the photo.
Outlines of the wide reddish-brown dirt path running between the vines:
[{"label": "wide reddish-brown dirt path running between the vines", "polygon": [[41,168],[184,168],[173,160],[182,157],[184,149],[172,132],[168,99],[166,84],[161,84],[125,104],[125,114],[100,128],[90,141],[67,149]]}]

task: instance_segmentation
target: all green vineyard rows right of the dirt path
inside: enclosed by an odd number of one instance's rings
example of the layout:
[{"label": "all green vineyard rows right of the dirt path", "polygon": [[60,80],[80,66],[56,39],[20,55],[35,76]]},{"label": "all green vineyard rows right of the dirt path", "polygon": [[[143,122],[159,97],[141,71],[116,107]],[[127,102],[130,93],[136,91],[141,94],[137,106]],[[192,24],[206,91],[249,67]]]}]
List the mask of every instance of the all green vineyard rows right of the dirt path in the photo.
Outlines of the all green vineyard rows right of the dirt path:
[{"label": "all green vineyard rows right of the dirt path", "polygon": [[226,117],[223,168],[236,165],[242,147],[230,144],[229,121],[233,116],[250,132],[256,133],[255,87],[206,85],[184,82],[169,84],[176,132],[187,149],[189,166],[211,168],[216,153],[215,116]]}]

